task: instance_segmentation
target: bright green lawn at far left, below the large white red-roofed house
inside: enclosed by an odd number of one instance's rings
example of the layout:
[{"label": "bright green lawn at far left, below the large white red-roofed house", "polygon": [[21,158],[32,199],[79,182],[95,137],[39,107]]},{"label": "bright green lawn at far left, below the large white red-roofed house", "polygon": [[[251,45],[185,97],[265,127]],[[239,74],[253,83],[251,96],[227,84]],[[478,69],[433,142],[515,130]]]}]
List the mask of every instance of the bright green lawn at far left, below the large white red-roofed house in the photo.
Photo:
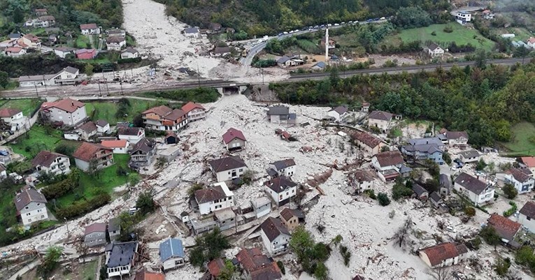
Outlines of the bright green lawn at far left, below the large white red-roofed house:
[{"label": "bright green lawn at far left, below the large white red-roofed house", "polygon": [[51,129],[47,132],[43,126],[38,125],[32,126],[27,134],[21,135],[8,145],[13,148],[13,152],[32,159],[41,150],[53,151],[61,143],[76,147],[80,145],[80,142],[64,140],[62,131]]}]

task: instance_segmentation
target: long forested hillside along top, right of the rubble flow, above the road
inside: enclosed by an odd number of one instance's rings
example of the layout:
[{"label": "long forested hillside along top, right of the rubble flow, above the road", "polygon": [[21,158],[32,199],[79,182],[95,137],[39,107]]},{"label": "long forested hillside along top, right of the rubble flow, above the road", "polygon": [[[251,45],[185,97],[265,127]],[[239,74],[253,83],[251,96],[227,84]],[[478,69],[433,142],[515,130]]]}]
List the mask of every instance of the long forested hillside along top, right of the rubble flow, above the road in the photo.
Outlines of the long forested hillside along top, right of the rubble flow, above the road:
[{"label": "long forested hillside along top, right of the rubble flow, above the road", "polygon": [[157,0],[168,15],[187,24],[223,27],[266,35],[325,22],[394,15],[399,7],[419,6],[430,13],[450,7],[448,0]]}]

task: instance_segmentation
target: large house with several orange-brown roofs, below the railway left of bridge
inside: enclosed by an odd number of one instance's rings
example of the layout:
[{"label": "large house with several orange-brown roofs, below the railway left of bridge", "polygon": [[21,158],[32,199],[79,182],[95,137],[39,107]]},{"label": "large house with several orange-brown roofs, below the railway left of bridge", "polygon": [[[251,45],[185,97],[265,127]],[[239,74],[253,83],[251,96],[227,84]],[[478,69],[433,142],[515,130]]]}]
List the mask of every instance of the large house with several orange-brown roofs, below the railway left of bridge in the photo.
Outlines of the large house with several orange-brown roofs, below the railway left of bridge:
[{"label": "large house with several orange-brown roofs, below the railway left of bridge", "polygon": [[167,106],[150,108],[141,113],[145,128],[153,131],[178,131],[187,125],[187,115],[183,110]]}]

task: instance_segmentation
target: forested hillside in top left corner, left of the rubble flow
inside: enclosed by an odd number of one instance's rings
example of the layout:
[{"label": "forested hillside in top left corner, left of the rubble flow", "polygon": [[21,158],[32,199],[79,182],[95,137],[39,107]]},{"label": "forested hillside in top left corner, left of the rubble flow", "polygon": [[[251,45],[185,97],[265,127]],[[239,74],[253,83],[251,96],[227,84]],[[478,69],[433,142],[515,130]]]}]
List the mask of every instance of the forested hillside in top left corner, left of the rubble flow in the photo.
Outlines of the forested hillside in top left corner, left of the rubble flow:
[{"label": "forested hillside in top left corner, left of the rubble flow", "polygon": [[46,8],[59,26],[78,30],[80,24],[96,23],[102,27],[120,27],[121,0],[1,0],[0,34],[18,31],[17,25],[36,17],[36,8]]}]

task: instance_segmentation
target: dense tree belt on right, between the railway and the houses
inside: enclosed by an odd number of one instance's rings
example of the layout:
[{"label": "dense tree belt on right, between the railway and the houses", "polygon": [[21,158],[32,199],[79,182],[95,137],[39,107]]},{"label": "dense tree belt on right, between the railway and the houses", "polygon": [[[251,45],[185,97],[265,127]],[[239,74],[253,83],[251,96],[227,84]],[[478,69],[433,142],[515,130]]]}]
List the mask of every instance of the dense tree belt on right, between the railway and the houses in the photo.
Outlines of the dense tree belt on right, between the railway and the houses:
[{"label": "dense tree belt on right, between the railway and the houses", "polygon": [[450,130],[468,131],[472,145],[511,140],[511,126],[535,121],[535,63],[492,65],[485,69],[453,67],[450,71],[399,75],[332,73],[322,81],[270,84],[280,100],[299,104],[355,107],[371,102],[410,119],[427,119]]}]

